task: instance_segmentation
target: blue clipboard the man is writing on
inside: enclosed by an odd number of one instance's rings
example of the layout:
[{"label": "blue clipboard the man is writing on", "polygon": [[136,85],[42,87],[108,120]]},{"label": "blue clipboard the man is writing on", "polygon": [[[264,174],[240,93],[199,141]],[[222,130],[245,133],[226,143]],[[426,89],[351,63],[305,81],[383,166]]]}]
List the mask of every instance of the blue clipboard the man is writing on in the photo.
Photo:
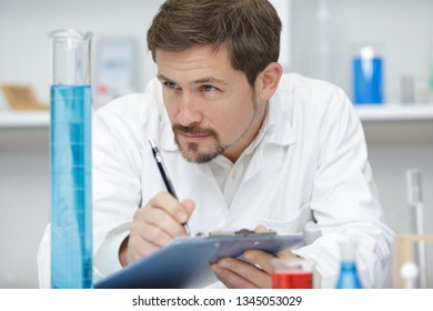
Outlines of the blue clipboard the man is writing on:
[{"label": "blue clipboard the man is writing on", "polygon": [[210,264],[224,257],[240,258],[250,249],[269,253],[303,244],[302,234],[274,231],[214,232],[174,239],[157,252],[122,268],[94,284],[95,289],[197,289],[218,282]]}]

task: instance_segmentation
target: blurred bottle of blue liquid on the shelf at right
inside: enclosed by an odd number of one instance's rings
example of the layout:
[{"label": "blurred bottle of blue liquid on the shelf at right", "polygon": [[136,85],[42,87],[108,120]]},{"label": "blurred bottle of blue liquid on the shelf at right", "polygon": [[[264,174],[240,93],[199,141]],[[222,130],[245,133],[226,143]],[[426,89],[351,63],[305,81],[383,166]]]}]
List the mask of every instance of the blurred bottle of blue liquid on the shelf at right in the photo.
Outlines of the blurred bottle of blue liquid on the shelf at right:
[{"label": "blurred bottle of blue liquid on the shelf at right", "polygon": [[383,103],[383,60],[371,48],[363,48],[352,60],[353,102]]}]

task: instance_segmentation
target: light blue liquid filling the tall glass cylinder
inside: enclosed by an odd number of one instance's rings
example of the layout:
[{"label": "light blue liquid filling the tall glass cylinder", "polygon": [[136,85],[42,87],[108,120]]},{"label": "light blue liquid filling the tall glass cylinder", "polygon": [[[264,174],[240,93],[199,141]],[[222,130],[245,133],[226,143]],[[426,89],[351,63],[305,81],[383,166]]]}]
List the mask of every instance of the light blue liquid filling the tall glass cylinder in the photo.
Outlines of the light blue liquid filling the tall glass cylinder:
[{"label": "light blue liquid filling the tall glass cylinder", "polygon": [[51,287],[92,288],[91,88],[51,87]]}]

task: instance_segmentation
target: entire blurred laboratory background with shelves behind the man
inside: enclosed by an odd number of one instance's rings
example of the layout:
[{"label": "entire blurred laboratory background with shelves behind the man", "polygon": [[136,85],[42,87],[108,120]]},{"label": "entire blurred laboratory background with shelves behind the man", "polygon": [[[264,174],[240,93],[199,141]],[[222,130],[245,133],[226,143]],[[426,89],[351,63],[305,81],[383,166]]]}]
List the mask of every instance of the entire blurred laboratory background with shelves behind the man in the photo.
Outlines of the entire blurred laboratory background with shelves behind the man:
[{"label": "entire blurred laboratory background with shelves behind the man", "polygon": [[[162,0],[0,0],[0,288],[37,288],[37,251],[50,221],[48,33],[92,31],[93,108],[141,92],[155,76],[145,33]],[[329,80],[351,99],[355,61],[371,70],[379,97],[354,102],[391,228],[412,233],[406,173],[421,173],[424,232],[433,232],[433,1],[273,0],[282,17],[285,71]],[[366,49],[366,50],[365,50]],[[354,100],[355,101],[355,100]],[[358,101],[358,100],[356,100]],[[429,234],[427,234],[429,235]],[[400,239],[399,238],[399,239]],[[397,240],[400,241],[400,240]],[[409,241],[409,242],[407,242]],[[433,262],[433,242],[426,242]],[[386,287],[397,287],[396,250]],[[401,257],[397,262],[396,257]],[[399,265],[395,268],[395,265]],[[433,265],[429,281],[433,287]]]}]

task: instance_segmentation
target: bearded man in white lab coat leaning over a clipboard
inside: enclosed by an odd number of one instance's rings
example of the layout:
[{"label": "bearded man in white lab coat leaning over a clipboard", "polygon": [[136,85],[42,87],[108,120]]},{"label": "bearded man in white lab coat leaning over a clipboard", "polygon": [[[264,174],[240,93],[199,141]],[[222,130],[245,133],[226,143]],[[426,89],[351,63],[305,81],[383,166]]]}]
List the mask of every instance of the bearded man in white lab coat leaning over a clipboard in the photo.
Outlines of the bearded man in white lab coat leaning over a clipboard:
[{"label": "bearded man in white lab coat leaning over a clipboard", "polygon": [[[336,87],[278,63],[281,21],[266,0],[168,0],[148,31],[158,81],[101,108],[93,126],[94,267],[105,277],[175,237],[216,230],[304,232],[279,257],[339,274],[356,242],[365,287],[383,284],[383,223],[359,119]],[[165,191],[149,139],[179,201]],[[270,288],[272,254],[211,267],[228,288]],[[260,267],[260,268],[258,268]]]}]

